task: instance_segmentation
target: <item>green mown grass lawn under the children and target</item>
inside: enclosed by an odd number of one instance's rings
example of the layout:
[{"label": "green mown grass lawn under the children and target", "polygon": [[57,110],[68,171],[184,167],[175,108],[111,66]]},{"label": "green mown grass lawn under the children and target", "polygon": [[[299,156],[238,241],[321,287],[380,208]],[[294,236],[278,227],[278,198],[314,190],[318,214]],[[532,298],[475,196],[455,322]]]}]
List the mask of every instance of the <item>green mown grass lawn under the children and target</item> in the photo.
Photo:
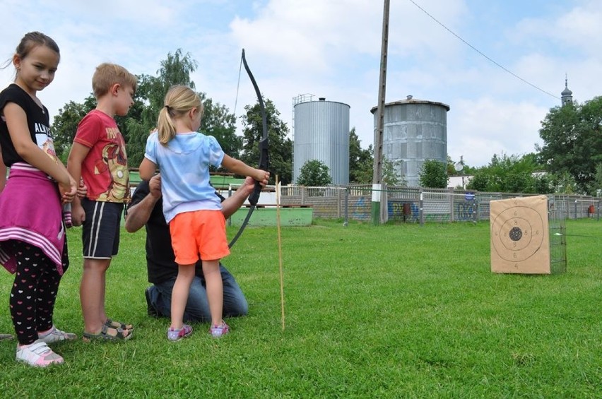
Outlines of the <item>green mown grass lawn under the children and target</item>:
[{"label": "green mown grass lawn under the children and target", "polygon": [[[54,321],[81,335],[81,230]],[[235,229],[228,230],[229,237]],[[572,234],[572,235],[571,235]],[[586,236],[586,237],[584,237]],[[567,221],[567,273],[490,272],[489,223],[384,225],[317,220],[282,230],[285,330],[275,227],[245,230],[225,258],[249,301],[230,335],[207,324],[165,338],[146,316],[145,233],[122,231],[107,313],[125,343],[54,344],[65,364],[15,362],[0,343],[2,398],[600,398],[602,222]],[[13,332],[8,292],[0,332]]]}]

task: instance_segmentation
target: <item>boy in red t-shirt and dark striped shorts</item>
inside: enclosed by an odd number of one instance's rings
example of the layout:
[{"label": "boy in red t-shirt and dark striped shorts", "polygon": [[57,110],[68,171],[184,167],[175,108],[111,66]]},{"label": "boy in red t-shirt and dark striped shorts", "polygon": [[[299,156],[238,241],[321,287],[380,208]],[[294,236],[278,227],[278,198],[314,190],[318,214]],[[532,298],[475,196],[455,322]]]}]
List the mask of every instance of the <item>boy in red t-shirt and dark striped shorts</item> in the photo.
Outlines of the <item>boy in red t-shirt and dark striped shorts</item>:
[{"label": "boy in red t-shirt and dark striped shorts", "polygon": [[96,109],[80,121],[67,169],[83,179],[86,198],[73,201],[74,225],[83,224],[83,273],[80,285],[84,340],[126,340],[133,326],[105,313],[106,272],[119,249],[124,203],[129,200],[129,172],[122,133],[113,119],[134,104],[136,76],[115,64],[100,64],[92,78]]}]

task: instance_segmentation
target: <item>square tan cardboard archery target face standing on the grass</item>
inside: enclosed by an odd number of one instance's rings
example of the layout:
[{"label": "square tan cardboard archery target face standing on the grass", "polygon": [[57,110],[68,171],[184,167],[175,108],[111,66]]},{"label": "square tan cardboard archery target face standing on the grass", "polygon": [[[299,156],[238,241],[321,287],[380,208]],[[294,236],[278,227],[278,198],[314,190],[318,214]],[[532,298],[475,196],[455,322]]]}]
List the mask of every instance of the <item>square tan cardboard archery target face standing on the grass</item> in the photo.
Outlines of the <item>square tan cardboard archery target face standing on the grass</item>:
[{"label": "square tan cardboard archery target face standing on the grass", "polygon": [[548,197],[490,202],[491,271],[550,274]]}]

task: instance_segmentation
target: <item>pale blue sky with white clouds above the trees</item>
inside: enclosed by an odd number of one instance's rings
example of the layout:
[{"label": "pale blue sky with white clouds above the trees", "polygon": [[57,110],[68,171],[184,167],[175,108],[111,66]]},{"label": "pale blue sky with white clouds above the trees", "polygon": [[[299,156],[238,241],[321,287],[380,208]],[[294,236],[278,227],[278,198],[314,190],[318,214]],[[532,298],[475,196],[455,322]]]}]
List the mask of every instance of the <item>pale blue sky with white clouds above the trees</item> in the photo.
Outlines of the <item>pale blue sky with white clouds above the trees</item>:
[{"label": "pale blue sky with white clouds above the trees", "polygon": [[[254,104],[249,67],[289,129],[293,98],[350,106],[362,148],[374,141],[384,1],[0,0],[0,61],[26,32],[61,49],[54,82],[38,97],[52,117],[90,95],[94,69],[114,62],[156,76],[168,53],[196,60],[196,90],[234,112]],[[422,8],[422,9],[420,9]],[[424,10],[424,11],[423,11]],[[437,22],[438,21],[438,22]],[[536,151],[541,121],[568,88],[577,102],[602,94],[600,0],[392,0],[386,102],[442,102],[447,153],[487,165]],[[0,70],[0,86],[14,69]],[[242,134],[239,130],[237,133]],[[292,138],[292,137],[291,137]]]}]

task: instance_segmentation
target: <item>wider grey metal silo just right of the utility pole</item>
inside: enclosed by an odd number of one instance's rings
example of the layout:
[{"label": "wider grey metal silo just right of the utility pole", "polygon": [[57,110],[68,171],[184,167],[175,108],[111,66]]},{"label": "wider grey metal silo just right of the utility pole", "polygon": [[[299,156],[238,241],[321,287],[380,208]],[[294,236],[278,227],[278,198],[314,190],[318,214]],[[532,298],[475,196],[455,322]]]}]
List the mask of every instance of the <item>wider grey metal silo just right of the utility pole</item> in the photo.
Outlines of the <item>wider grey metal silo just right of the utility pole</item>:
[{"label": "wider grey metal silo just right of the utility pole", "polygon": [[[374,129],[377,126],[377,108]],[[384,105],[382,155],[395,163],[399,176],[408,186],[420,186],[420,169],[426,160],[439,160],[447,165],[447,112],[442,102],[407,100]]]}]

